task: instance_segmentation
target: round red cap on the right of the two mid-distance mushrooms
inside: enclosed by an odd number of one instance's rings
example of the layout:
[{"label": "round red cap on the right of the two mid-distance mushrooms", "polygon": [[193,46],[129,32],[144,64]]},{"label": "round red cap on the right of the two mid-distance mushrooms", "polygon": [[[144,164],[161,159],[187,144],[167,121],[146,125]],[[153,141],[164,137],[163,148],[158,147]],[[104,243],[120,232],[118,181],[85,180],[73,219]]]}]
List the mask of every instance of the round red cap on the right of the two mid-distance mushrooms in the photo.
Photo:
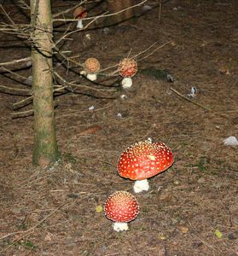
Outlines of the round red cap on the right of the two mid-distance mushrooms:
[{"label": "round red cap on the right of the two mid-distance mushrooms", "polygon": [[137,63],[135,60],[125,58],[119,62],[119,75],[123,78],[131,78],[137,72]]}]

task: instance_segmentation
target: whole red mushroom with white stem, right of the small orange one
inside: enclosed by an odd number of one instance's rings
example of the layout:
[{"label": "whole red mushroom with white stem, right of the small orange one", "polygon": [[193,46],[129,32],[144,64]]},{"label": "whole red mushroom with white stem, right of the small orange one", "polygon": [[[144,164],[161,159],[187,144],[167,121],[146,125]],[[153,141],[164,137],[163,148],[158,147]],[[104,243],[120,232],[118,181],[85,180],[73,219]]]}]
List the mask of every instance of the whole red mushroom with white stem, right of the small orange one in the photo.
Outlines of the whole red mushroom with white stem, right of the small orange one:
[{"label": "whole red mushroom with white stem, right of the small orange one", "polygon": [[124,89],[130,88],[132,85],[132,77],[137,72],[137,62],[130,58],[125,58],[119,62],[119,75],[123,77],[121,82]]}]

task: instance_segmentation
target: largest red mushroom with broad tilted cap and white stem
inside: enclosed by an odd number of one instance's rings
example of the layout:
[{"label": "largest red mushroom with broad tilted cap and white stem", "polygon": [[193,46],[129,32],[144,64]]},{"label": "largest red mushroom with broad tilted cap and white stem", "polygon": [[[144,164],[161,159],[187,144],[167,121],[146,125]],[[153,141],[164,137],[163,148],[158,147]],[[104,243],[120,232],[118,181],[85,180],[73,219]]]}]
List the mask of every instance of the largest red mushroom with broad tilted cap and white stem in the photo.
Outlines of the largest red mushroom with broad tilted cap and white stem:
[{"label": "largest red mushroom with broad tilted cap and white stem", "polygon": [[118,172],[121,177],[136,180],[134,191],[148,191],[148,178],[164,172],[174,162],[171,149],[165,143],[152,143],[151,140],[135,143],[121,154]]}]

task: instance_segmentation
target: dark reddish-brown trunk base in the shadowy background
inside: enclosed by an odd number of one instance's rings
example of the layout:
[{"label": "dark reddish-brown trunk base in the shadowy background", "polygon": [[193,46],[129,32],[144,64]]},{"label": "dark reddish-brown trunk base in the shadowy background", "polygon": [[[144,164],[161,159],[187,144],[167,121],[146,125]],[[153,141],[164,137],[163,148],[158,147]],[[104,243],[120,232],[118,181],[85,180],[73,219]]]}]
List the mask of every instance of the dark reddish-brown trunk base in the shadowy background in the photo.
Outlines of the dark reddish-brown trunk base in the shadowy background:
[{"label": "dark reddish-brown trunk base in the shadowy background", "polygon": [[[135,2],[135,1],[134,1]],[[107,0],[107,9],[110,14],[119,12],[123,9],[131,7],[133,5],[132,0]],[[107,22],[109,25],[117,24],[124,20],[129,20],[134,15],[134,9],[128,9],[118,15],[110,16]]]}]

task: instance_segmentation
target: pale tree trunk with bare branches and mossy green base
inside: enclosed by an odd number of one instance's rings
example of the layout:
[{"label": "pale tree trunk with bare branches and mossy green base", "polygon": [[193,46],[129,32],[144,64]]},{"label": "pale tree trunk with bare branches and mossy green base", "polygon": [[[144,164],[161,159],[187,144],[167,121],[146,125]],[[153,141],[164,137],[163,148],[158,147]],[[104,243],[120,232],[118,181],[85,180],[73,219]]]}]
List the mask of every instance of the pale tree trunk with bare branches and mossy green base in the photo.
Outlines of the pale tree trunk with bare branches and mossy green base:
[{"label": "pale tree trunk with bare branches and mossy green base", "polygon": [[31,0],[34,109],[33,164],[49,166],[59,159],[53,101],[52,15],[50,0]]}]

